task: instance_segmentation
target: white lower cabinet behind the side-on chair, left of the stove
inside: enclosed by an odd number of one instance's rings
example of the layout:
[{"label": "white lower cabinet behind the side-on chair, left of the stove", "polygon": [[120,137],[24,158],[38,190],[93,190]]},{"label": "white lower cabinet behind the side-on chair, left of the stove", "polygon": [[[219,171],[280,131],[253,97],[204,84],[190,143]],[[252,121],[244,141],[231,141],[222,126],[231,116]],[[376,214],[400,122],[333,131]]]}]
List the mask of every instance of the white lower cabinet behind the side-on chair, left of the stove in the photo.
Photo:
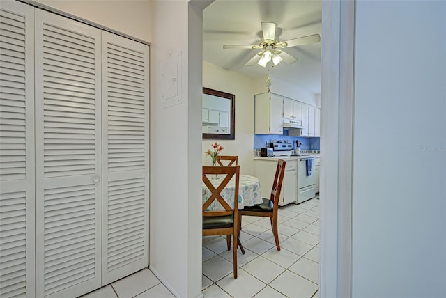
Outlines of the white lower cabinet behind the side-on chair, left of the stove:
[{"label": "white lower cabinet behind the side-on chair, left of the stove", "polygon": [[[263,198],[270,198],[272,182],[277,168],[277,159],[255,159],[255,176],[259,178]],[[297,194],[297,161],[286,160],[284,181],[280,192],[279,205],[295,203]]]}]

